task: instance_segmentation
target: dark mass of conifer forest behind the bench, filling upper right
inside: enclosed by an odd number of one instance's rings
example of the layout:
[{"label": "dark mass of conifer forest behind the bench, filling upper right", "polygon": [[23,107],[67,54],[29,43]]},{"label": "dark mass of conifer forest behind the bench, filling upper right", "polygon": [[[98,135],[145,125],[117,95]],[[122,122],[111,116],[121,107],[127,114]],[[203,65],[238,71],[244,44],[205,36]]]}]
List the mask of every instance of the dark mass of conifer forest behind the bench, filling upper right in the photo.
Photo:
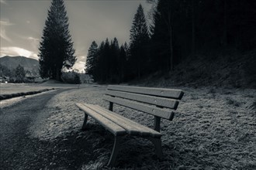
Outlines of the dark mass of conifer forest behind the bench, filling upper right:
[{"label": "dark mass of conifer forest behind the bench, filling upper right", "polygon": [[[92,42],[85,71],[95,81],[122,83],[152,74],[171,77],[178,69],[188,72],[188,63],[200,62],[202,68],[209,69],[201,70],[203,76],[214,71],[209,64],[218,63],[220,58],[227,65],[233,61],[244,63],[238,70],[232,68],[233,72],[255,75],[255,57],[246,54],[256,46],[256,2],[148,2],[154,6],[148,14],[151,19],[146,19],[140,5],[133,18],[129,44],[119,46],[116,38],[110,42],[106,39],[99,46]],[[254,82],[251,78],[248,81]]]}]

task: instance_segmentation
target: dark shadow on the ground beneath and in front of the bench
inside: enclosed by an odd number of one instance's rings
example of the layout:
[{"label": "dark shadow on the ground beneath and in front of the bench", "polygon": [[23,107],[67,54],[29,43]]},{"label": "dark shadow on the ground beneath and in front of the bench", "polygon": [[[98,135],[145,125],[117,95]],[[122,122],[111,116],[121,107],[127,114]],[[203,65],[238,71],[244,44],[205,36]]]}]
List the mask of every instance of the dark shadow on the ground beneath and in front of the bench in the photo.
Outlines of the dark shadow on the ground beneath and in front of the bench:
[{"label": "dark shadow on the ground beneath and in front of the bench", "polygon": [[[154,154],[154,145],[150,141],[134,136],[124,136],[121,141],[123,148],[119,151],[116,168],[107,167],[114,136],[99,124],[88,124],[85,131],[73,131],[53,141],[39,141],[36,138],[28,140],[31,142],[24,146],[25,149],[22,149],[23,152],[20,152],[18,157],[19,160],[12,162],[16,165],[13,168],[133,169],[143,167],[143,169],[168,169],[168,165],[164,165],[164,162],[171,161],[162,160],[161,167],[159,167],[160,161]],[[164,147],[164,150],[171,148]]]}]

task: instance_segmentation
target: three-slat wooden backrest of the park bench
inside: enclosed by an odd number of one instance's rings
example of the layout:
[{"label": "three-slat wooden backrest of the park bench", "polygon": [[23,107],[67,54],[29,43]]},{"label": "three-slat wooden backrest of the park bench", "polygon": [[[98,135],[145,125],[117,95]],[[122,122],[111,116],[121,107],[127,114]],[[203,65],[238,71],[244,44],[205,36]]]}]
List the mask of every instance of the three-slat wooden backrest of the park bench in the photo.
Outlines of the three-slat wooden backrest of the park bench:
[{"label": "three-slat wooden backrest of the park bench", "polygon": [[109,85],[103,99],[109,101],[109,110],[119,104],[171,121],[183,94],[174,89]]}]

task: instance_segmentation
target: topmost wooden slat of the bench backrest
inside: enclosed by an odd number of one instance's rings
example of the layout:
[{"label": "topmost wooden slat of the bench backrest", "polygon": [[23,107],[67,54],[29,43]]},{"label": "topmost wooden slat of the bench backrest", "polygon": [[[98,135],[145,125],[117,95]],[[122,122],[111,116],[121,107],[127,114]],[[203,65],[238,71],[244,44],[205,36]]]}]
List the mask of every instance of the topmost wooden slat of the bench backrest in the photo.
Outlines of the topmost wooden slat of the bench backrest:
[{"label": "topmost wooden slat of the bench backrest", "polygon": [[109,85],[107,89],[130,92],[130,93],[147,94],[147,95],[157,96],[157,97],[168,97],[168,98],[174,98],[178,100],[181,100],[184,94],[182,90],[150,88],[150,87],[124,87],[124,86]]}]

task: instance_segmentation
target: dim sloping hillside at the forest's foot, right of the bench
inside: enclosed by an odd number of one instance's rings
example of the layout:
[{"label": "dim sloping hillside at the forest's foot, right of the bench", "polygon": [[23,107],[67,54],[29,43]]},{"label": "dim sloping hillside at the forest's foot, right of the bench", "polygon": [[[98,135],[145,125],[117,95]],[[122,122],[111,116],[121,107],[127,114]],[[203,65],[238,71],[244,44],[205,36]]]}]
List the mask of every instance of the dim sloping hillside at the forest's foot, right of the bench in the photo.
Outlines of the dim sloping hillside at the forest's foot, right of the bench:
[{"label": "dim sloping hillside at the forest's foot, right of the bench", "polygon": [[154,73],[137,83],[150,87],[256,88],[256,51],[213,57],[195,56],[175,66],[171,73]]}]

